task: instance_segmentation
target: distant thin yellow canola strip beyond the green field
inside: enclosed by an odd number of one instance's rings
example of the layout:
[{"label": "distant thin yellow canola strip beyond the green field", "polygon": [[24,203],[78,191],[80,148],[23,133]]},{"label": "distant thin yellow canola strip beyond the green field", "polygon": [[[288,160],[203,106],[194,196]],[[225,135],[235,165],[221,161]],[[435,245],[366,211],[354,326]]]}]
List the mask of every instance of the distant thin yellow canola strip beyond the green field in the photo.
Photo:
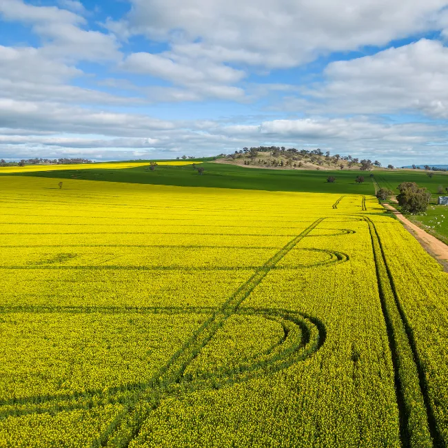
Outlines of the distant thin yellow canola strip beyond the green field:
[{"label": "distant thin yellow canola strip beyond the green field", "polygon": [[[158,161],[157,165],[192,165],[192,163],[202,163],[195,161]],[[59,171],[59,170],[123,170],[125,168],[136,168],[149,165],[149,162],[112,162],[112,163],[73,163],[70,165],[26,165],[0,167],[0,174],[38,172],[38,171]]]}]

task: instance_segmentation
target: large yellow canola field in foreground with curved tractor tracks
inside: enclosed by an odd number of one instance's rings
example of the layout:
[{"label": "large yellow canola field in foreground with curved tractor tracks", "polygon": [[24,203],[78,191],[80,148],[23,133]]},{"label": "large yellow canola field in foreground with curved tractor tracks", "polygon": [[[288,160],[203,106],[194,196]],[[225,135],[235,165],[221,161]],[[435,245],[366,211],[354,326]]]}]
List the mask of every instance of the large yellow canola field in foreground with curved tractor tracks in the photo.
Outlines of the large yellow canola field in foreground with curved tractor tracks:
[{"label": "large yellow canola field in foreground with curved tractor tracks", "polygon": [[376,198],[55,182],[0,176],[1,447],[447,444],[447,274]]}]

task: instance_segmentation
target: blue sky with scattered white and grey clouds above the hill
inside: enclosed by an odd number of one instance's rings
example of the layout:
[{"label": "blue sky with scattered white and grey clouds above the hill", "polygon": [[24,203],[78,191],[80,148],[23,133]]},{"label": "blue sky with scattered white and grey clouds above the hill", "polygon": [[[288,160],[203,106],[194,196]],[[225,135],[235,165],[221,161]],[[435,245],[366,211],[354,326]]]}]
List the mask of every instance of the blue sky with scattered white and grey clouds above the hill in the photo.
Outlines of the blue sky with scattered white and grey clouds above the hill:
[{"label": "blue sky with scattered white and grey clouds above the hill", "polygon": [[448,0],[1,0],[0,158],[448,162]]}]

